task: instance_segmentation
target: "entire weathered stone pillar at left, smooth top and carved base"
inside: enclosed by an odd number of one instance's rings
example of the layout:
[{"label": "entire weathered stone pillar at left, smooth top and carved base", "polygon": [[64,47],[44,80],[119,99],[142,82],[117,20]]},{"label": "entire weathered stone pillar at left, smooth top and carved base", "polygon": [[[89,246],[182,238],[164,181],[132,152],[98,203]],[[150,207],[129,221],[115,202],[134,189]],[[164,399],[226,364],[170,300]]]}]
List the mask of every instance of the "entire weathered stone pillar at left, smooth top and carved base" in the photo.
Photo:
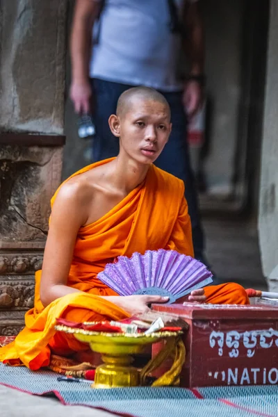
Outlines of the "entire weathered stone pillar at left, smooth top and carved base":
[{"label": "entire weathered stone pillar at left, smooth top and carved base", "polygon": [[33,306],[60,183],[67,0],[0,2],[0,334]]}]

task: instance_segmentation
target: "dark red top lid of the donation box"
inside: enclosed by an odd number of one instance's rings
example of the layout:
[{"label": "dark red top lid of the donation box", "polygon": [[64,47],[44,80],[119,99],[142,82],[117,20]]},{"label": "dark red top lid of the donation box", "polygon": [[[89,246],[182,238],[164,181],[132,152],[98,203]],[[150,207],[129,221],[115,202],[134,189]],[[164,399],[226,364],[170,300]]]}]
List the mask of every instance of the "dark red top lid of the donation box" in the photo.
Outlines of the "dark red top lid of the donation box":
[{"label": "dark red top lid of the donation box", "polygon": [[174,314],[190,320],[245,319],[264,320],[278,319],[278,306],[262,304],[152,304],[154,311]]}]

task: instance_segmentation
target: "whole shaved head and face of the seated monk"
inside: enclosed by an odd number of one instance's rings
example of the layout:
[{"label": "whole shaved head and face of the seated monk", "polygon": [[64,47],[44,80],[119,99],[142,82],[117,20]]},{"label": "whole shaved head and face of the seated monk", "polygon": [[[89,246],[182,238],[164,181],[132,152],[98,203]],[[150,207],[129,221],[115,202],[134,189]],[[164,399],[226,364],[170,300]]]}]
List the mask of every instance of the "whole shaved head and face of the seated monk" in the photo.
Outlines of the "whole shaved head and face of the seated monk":
[{"label": "whole shaved head and face of the seated monk", "polygon": [[172,131],[170,106],[153,88],[133,87],[120,95],[117,114],[109,117],[111,132],[120,139],[120,154],[139,164],[153,163]]}]

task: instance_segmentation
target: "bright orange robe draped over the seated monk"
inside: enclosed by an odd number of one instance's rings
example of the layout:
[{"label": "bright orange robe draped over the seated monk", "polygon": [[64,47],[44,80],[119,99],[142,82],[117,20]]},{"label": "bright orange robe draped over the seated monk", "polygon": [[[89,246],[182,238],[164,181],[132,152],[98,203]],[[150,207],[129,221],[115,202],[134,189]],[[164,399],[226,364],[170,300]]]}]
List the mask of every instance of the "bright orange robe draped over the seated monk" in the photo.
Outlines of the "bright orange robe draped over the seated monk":
[{"label": "bright orange robe draped over the seated monk", "polygon": [[[73,176],[107,162],[89,165]],[[117,256],[131,256],[133,252],[143,254],[146,250],[164,248],[193,256],[190,217],[183,195],[183,181],[151,165],[144,183],[102,218],[81,227],[67,285],[83,293],[65,295],[44,308],[40,302],[41,271],[36,272],[34,308],[26,313],[26,327],[15,341],[0,349],[0,361],[23,363],[36,370],[49,365],[51,352],[67,355],[88,349],[74,336],[56,332],[56,318],[83,322],[128,317],[115,304],[99,297],[117,294],[102,284],[97,274]],[[247,303],[246,295],[239,297],[244,291],[242,287],[225,284],[224,288],[224,293],[222,286],[206,288],[208,301]]]}]

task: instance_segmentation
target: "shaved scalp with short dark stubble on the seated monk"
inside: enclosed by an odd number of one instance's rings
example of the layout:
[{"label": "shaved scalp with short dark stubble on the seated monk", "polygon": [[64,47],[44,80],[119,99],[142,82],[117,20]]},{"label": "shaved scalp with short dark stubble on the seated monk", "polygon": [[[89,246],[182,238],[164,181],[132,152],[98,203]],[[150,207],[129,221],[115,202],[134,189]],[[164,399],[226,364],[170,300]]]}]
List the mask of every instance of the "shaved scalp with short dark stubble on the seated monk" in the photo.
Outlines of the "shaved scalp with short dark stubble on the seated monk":
[{"label": "shaved scalp with short dark stubble on the seated monk", "polygon": [[123,117],[131,109],[131,104],[137,100],[142,101],[158,101],[167,108],[169,118],[171,117],[170,106],[165,97],[154,88],[149,87],[133,87],[129,88],[120,95],[117,101],[117,116]]}]

